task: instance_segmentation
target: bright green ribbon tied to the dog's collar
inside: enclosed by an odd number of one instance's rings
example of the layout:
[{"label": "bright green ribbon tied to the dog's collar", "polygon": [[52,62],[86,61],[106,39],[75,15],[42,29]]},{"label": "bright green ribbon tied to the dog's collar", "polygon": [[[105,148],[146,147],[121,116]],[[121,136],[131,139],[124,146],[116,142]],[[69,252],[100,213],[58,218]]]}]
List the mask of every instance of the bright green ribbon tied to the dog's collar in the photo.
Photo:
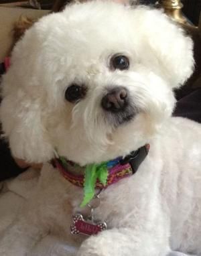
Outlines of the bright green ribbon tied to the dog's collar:
[{"label": "bright green ribbon tied to the dog's collar", "polygon": [[107,176],[107,162],[86,166],[84,174],[84,198],[80,207],[86,206],[94,197],[96,180],[98,179],[105,186],[107,184]]}]

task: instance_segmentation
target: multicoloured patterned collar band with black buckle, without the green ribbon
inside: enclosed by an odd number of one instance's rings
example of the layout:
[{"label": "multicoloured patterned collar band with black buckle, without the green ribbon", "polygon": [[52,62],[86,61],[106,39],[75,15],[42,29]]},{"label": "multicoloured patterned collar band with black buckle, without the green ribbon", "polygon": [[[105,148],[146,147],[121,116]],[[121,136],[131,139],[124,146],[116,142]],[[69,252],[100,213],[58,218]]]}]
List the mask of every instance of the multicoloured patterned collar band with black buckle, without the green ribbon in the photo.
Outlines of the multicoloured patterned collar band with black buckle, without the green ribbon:
[{"label": "multicoloured patterned collar band with black buckle, without the green ribbon", "polygon": [[[137,172],[140,164],[143,162],[149,152],[149,144],[140,147],[137,151],[132,151],[126,157],[117,157],[109,162],[105,163],[107,167],[107,180],[101,182],[100,179],[96,179],[95,188],[107,188],[111,184],[118,182],[119,180],[131,176]],[[63,157],[59,157],[53,160],[53,166],[60,170],[60,173],[66,180],[74,184],[75,186],[84,187],[85,177],[84,175],[76,175],[68,170],[68,166],[76,166],[73,162],[65,160]],[[101,165],[99,165],[101,166]],[[97,166],[98,167],[98,166]]]}]

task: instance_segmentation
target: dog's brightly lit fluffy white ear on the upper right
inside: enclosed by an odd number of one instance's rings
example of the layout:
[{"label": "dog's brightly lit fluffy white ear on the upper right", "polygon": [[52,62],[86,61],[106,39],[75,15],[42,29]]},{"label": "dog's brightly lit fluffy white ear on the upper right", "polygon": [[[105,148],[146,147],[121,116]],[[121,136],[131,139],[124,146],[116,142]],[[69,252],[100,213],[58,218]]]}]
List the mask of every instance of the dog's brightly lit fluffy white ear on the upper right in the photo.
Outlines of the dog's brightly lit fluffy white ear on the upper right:
[{"label": "dog's brightly lit fluffy white ear on the upper right", "polygon": [[153,62],[156,70],[173,88],[184,84],[194,70],[192,39],[162,11],[142,7],[139,12],[143,13],[140,22],[151,46],[150,54],[157,60]]}]

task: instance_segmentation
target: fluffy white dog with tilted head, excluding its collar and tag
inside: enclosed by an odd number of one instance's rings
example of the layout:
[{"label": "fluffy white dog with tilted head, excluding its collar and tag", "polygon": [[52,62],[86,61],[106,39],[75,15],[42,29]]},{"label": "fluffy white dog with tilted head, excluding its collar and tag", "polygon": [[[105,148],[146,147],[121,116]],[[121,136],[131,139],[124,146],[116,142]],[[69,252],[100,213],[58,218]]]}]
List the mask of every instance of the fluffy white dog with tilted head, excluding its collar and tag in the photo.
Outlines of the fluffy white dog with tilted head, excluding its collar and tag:
[{"label": "fluffy white dog with tilted head, excluding its collar and tag", "polygon": [[[201,255],[201,127],[171,117],[192,55],[192,40],[161,11],[109,1],[70,5],[25,33],[3,78],[1,121],[15,157],[46,164],[1,235],[1,256],[42,255],[40,241],[45,255]],[[143,151],[139,163],[133,151]],[[76,163],[73,177],[117,157],[139,166],[96,189],[94,222],[107,230],[70,233],[74,214],[86,226],[92,216],[80,207],[83,188],[50,164],[55,155]]]}]

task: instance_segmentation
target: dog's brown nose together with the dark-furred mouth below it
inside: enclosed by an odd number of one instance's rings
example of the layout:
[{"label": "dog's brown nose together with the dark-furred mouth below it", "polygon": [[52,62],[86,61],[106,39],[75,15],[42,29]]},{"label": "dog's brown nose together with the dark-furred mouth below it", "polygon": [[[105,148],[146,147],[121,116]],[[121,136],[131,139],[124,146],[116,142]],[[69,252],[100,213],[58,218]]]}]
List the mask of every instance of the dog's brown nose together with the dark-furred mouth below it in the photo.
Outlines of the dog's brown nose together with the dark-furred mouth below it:
[{"label": "dog's brown nose together with the dark-furred mouth below it", "polygon": [[101,101],[101,107],[105,111],[107,122],[115,126],[131,121],[136,113],[131,105],[129,92],[123,86],[109,89]]}]

